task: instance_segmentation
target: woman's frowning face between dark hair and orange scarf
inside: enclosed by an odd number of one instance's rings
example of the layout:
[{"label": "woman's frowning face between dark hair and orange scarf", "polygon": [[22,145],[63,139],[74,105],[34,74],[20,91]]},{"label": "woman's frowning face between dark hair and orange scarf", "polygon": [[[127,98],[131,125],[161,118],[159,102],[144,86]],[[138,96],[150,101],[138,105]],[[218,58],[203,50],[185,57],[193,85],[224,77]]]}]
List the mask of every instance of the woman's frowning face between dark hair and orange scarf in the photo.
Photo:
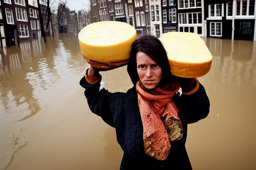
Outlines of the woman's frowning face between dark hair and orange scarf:
[{"label": "woman's frowning face between dark hair and orange scarf", "polygon": [[162,78],[161,67],[142,51],[136,54],[136,62],[137,72],[143,86],[148,90],[154,89]]}]

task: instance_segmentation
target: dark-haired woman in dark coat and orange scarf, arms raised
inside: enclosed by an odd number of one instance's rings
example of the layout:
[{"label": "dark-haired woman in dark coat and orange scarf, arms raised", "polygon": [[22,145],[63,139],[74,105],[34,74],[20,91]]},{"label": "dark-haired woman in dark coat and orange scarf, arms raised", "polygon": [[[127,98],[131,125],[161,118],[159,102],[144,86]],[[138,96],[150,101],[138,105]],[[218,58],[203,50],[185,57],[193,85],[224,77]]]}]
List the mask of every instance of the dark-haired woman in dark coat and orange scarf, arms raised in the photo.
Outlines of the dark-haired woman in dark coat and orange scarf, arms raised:
[{"label": "dark-haired woman in dark coat and orange scarf, arms raised", "polygon": [[209,113],[204,87],[197,79],[172,76],[166,51],[153,36],[133,43],[127,71],[134,87],[126,93],[99,91],[101,75],[92,66],[80,81],[91,111],[116,129],[124,151],[120,169],[192,169],[187,124]]}]

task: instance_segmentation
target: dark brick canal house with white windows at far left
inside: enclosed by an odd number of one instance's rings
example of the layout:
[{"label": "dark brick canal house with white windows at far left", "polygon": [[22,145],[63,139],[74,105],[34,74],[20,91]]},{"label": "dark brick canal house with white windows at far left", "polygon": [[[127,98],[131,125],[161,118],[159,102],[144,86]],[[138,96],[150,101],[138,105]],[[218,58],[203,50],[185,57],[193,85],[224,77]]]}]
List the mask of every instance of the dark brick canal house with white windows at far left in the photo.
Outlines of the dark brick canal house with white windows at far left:
[{"label": "dark brick canal house with white windows at far left", "polygon": [[0,5],[1,46],[41,37],[36,0],[3,0]]}]

